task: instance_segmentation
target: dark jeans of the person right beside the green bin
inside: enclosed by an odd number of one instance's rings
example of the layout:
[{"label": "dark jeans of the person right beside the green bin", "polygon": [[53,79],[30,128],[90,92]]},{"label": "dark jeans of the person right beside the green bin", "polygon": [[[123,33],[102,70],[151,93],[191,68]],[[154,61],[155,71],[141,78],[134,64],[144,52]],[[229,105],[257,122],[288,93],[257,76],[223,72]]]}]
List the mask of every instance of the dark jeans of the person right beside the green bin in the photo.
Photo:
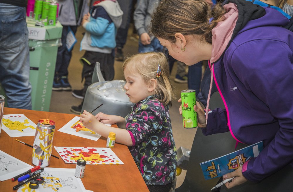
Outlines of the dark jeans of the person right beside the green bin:
[{"label": "dark jeans of the person right beside the green bin", "polygon": [[66,36],[71,28],[72,32],[75,34],[77,26],[63,26],[61,42],[62,46],[58,47],[57,60],[55,67],[55,76],[54,78],[61,78],[62,76],[68,76],[68,66],[72,56],[72,51],[68,51],[66,48]]}]

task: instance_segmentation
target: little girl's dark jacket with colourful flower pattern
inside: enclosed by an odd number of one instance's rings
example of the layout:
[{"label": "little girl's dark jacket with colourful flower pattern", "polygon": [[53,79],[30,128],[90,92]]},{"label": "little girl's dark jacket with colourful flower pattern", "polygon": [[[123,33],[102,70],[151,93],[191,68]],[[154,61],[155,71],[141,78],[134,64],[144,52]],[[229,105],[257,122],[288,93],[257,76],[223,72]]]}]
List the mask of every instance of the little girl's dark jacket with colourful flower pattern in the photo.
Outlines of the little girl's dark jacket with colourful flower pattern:
[{"label": "little girl's dark jacket with colourful flower pattern", "polygon": [[133,138],[129,149],[145,183],[171,183],[175,178],[177,152],[169,107],[149,96],[133,106],[125,121]]}]

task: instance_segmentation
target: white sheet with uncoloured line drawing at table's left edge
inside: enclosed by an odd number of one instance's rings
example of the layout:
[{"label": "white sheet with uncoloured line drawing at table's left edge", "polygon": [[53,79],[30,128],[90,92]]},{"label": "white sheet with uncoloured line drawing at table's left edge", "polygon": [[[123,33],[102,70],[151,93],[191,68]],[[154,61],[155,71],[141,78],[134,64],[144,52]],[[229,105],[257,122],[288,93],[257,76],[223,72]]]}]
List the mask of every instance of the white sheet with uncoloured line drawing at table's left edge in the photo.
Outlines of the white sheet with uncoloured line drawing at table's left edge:
[{"label": "white sheet with uncoloured line drawing at table's left edge", "polygon": [[33,168],[33,166],[0,150],[0,181],[11,179],[31,168]]}]

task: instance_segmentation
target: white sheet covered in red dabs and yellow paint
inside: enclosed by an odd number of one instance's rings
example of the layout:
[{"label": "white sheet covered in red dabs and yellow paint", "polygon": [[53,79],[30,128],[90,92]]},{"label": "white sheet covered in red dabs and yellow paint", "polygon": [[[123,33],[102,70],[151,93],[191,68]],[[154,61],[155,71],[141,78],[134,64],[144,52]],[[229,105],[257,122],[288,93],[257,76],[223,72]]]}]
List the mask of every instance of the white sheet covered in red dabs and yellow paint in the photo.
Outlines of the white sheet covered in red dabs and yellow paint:
[{"label": "white sheet covered in red dabs and yellow paint", "polygon": [[55,147],[55,149],[65,163],[76,163],[77,160],[83,159],[87,164],[124,164],[110,148]]}]

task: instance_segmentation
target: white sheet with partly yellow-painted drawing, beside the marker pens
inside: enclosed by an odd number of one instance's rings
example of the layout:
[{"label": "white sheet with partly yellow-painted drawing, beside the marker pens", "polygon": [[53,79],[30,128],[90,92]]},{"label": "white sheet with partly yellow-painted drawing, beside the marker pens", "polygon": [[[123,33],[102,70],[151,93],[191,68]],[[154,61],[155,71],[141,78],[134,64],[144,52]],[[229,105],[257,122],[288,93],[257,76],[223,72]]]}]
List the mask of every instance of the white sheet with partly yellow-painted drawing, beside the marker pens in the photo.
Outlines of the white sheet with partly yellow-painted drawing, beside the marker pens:
[{"label": "white sheet with partly yellow-painted drawing, beside the marker pens", "polygon": [[[39,187],[35,189],[35,192],[89,191],[84,188],[81,179],[74,176],[74,173],[75,169],[45,167],[44,171],[41,172],[40,175],[44,177],[44,183],[39,184]],[[27,183],[24,186],[18,188],[17,192],[33,192],[33,190],[29,188],[29,183]]]}]

